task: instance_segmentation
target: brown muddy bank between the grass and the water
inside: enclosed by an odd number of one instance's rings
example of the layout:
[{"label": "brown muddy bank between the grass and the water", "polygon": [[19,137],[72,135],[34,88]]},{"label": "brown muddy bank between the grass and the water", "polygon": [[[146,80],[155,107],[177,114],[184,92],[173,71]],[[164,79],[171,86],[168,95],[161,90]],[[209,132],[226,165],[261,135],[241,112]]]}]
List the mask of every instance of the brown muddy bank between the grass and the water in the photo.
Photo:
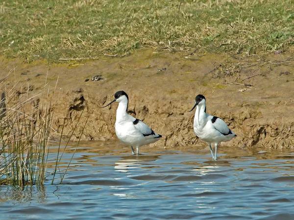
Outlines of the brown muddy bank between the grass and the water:
[{"label": "brown muddy bank between the grass and the water", "polygon": [[[205,146],[193,132],[194,112],[188,112],[194,106],[195,96],[201,93],[207,100],[207,113],[224,119],[238,135],[222,145],[294,147],[292,51],[229,56],[171,54],[150,49],[122,58],[74,62],[51,65],[0,60],[2,78],[16,66],[5,80],[6,90],[17,81],[20,89],[33,96],[44,86],[46,78],[51,88],[58,78],[53,136],[60,133],[64,119],[64,133],[70,134],[84,110],[73,139],[78,139],[87,118],[82,140],[116,138],[118,104],[105,109],[98,107],[112,101],[116,91],[124,90],[129,96],[129,113],[163,135],[156,145]],[[92,81],[95,75],[102,79]],[[42,97],[37,98],[42,102]]]}]

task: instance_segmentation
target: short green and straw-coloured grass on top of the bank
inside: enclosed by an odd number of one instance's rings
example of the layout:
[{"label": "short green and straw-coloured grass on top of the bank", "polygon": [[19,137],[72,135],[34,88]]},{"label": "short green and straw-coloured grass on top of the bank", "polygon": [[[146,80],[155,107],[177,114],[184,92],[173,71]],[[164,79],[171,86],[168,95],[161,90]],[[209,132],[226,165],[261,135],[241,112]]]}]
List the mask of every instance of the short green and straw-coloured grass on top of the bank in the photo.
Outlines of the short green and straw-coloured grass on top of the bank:
[{"label": "short green and straw-coloured grass on top of the bank", "polygon": [[169,51],[254,53],[294,44],[292,0],[5,0],[0,48],[29,60]]}]

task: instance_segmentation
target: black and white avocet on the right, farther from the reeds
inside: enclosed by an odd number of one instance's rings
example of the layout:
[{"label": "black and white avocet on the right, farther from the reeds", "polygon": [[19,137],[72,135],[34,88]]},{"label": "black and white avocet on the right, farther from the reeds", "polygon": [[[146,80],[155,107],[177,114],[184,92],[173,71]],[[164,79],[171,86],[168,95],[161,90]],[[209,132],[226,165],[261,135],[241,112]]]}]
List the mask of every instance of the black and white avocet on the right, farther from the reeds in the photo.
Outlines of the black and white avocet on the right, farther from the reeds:
[{"label": "black and white avocet on the right, farther from the reeds", "polygon": [[[197,107],[193,125],[194,132],[197,137],[208,144],[212,159],[217,160],[218,144],[230,141],[237,135],[229,129],[227,124],[221,118],[206,113],[206,100],[203,95],[197,95],[195,102],[195,106],[192,108],[192,110],[194,110],[195,107]],[[215,144],[215,156],[213,155],[211,144]]]}]

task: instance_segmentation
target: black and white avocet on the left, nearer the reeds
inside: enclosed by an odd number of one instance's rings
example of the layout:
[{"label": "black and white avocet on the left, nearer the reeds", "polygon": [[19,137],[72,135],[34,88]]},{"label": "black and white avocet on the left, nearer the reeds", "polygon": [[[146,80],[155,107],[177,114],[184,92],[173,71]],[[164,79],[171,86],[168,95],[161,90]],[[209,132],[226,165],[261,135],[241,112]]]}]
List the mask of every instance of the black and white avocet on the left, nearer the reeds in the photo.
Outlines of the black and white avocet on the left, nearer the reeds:
[{"label": "black and white avocet on the left, nearer the reeds", "polygon": [[114,94],[114,98],[106,106],[111,105],[113,102],[119,103],[115,122],[115,133],[123,144],[131,147],[133,154],[135,154],[133,146],[137,148],[137,154],[139,154],[139,147],[154,143],[162,137],[160,134],[152,131],[144,122],[127,113],[128,96],[124,91],[117,91]]}]

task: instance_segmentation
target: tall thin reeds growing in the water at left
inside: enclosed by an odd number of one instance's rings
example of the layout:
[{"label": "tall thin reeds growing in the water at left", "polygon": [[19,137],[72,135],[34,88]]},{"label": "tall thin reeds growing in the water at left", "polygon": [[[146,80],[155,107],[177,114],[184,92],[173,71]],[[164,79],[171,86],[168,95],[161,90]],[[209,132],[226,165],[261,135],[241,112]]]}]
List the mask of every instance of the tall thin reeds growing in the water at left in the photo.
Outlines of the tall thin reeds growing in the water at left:
[{"label": "tall thin reeds growing in the water at left", "polygon": [[[4,78],[0,82],[0,90],[0,185],[42,185],[46,179],[50,179],[51,184],[54,180],[60,179],[61,183],[72,159],[65,169],[60,168],[61,158],[69,143],[62,151],[62,132],[57,156],[53,161],[48,159],[49,137],[56,132],[53,129],[55,89],[51,91],[45,83],[42,89],[29,94],[29,86],[24,87],[16,82],[12,89],[7,90]],[[85,126],[86,124],[84,128]],[[48,162],[55,164],[49,173]],[[60,175],[55,177],[56,174]]]}]

